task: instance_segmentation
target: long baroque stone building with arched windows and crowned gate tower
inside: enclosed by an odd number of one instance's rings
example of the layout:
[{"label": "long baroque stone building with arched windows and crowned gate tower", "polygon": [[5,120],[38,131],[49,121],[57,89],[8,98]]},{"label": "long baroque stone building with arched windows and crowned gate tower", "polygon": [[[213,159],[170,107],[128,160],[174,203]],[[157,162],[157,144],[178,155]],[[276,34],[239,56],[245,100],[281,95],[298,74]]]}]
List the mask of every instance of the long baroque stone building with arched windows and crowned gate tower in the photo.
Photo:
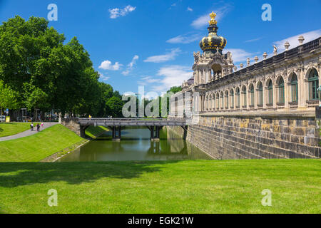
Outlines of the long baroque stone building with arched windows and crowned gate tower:
[{"label": "long baroque stone building with arched windows and crowned gate tower", "polygon": [[194,53],[193,77],[171,99],[169,118],[191,113],[197,120],[187,139],[218,159],[320,157],[321,37],[304,43],[300,36],[299,46],[286,42],[282,53],[274,46],[270,58],[265,52],[238,68],[232,53],[223,53],[227,41],[217,34],[214,13],[209,24],[203,53]]}]

